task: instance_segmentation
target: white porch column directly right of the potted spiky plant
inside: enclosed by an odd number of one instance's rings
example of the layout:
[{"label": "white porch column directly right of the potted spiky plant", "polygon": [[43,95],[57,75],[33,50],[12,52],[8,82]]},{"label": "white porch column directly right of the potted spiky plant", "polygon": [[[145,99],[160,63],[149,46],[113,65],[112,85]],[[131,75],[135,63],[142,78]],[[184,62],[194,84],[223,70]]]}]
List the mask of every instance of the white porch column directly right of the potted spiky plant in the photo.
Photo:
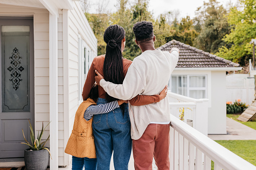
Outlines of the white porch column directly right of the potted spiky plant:
[{"label": "white porch column directly right of the potted spiky plant", "polygon": [[49,14],[50,169],[58,169],[58,18]]}]

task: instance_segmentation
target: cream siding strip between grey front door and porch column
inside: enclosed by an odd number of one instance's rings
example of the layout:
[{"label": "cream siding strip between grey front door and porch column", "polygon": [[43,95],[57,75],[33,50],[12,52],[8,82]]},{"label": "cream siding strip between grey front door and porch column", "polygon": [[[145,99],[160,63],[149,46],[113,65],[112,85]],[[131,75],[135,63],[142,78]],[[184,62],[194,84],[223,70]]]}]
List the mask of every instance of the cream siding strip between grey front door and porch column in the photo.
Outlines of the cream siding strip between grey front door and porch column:
[{"label": "cream siding strip between grey front door and porch column", "polygon": [[[37,11],[34,15],[35,131],[41,130],[42,121],[44,125],[49,123],[49,12]],[[42,139],[48,135],[49,126]]]}]

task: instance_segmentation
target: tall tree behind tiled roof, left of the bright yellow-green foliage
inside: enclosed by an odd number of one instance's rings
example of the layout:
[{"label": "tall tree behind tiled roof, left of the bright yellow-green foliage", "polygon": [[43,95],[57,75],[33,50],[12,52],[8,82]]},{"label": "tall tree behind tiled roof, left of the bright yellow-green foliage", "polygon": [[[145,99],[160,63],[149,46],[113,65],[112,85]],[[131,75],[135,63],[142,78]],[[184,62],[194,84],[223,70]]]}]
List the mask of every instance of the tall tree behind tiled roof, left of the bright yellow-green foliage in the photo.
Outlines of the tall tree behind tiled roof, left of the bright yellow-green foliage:
[{"label": "tall tree behind tiled roof, left of the bright yellow-green foliage", "polygon": [[200,32],[194,46],[209,53],[216,53],[225,44],[223,37],[230,33],[226,15],[227,11],[217,0],[204,2],[204,5],[197,9],[194,19],[195,29]]}]

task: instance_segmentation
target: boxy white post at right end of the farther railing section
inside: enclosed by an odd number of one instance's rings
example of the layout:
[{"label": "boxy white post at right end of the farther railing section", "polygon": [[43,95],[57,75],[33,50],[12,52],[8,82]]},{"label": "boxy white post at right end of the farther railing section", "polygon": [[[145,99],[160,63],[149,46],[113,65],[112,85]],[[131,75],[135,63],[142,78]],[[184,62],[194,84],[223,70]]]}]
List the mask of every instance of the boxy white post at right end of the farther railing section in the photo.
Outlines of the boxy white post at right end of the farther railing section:
[{"label": "boxy white post at right end of the farther railing section", "polygon": [[208,99],[196,100],[196,113],[193,115],[193,127],[208,135]]}]

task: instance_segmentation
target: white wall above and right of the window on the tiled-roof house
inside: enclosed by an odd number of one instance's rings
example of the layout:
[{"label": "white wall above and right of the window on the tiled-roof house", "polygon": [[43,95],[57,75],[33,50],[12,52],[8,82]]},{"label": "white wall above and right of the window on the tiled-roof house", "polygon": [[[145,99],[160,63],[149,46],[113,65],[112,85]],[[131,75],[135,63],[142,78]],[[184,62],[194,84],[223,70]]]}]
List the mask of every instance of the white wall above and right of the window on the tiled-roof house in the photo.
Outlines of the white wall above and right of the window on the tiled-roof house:
[{"label": "white wall above and right of the window on the tiled-roof house", "polygon": [[[208,134],[226,134],[226,72],[211,70],[174,70],[172,75],[206,75]],[[169,89],[171,90],[171,88]]]}]

